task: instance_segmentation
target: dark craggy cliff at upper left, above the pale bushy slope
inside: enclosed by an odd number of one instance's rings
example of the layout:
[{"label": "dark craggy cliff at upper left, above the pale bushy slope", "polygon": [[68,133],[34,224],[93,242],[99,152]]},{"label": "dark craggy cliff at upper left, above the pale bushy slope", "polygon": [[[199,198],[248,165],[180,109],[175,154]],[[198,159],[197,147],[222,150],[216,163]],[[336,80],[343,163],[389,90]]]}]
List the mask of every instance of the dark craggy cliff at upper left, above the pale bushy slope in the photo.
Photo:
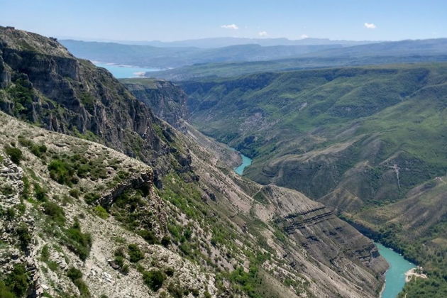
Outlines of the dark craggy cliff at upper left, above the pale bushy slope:
[{"label": "dark craggy cliff at upper left, above the pale bushy slope", "polygon": [[170,153],[169,128],[145,104],[55,40],[0,27],[0,57],[0,109],[6,113],[97,140],[154,166]]}]

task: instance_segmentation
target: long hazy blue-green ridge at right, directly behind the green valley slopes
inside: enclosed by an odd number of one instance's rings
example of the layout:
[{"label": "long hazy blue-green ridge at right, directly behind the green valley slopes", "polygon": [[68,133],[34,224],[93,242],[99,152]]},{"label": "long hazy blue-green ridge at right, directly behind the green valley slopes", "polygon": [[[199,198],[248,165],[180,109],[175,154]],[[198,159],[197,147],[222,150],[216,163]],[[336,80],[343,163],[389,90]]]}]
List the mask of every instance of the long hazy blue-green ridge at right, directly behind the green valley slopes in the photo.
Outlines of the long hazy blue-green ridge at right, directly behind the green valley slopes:
[{"label": "long hazy blue-green ridge at right, directly behind the green valley slopes", "polygon": [[447,39],[439,38],[355,45],[279,60],[187,65],[172,70],[150,72],[148,76],[181,81],[200,77],[234,77],[265,70],[280,72],[321,67],[444,61],[447,61]]}]

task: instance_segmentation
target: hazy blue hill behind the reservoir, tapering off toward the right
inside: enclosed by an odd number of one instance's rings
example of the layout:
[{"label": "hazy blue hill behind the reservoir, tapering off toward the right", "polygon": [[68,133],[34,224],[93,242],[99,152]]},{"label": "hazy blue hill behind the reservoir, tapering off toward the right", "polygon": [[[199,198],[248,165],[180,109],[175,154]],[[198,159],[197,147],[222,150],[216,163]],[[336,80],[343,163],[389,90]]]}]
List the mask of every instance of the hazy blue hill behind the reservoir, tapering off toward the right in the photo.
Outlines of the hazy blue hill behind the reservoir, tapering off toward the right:
[{"label": "hazy blue hill behind the reservoir, tapering off toward the right", "polygon": [[158,48],[79,40],[60,40],[78,57],[101,62],[143,67],[180,67],[206,62],[241,62],[297,57],[306,53],[341,48],[342,45],[231,45],[224,48]]}]

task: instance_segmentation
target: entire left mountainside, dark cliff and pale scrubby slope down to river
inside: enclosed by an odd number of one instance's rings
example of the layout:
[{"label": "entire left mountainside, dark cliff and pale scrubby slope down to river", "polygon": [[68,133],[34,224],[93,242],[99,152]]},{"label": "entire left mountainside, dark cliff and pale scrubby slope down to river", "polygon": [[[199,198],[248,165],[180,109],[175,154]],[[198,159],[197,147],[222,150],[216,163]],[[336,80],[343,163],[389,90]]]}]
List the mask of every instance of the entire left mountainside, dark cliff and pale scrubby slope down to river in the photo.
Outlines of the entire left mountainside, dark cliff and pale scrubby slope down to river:
[{"label": "entire left mountainside, dark cliff and pale scrubby slope down to river", "polygon": [[[377,249],[323,205],[239,177],[193,136],[153,116],[108,72],[54,40],[9,28],[1,28],[0,40],[2,107],[16,116],[0,113],[2,294],[380,291],[386,263]],[[78,94],[84,89],[87,102]],[[85,131],[77,131],[80,124]],[[52,131],[91,131],[93,140],[145,163]]]}]

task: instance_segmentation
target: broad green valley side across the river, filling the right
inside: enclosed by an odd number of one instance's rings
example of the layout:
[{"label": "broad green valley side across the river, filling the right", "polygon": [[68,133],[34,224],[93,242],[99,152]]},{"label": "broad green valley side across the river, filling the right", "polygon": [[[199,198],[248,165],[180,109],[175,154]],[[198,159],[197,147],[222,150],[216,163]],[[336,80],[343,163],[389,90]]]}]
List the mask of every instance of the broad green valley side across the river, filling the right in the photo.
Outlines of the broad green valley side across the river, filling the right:
[{"label": "broad green valley side across the river, filling the right", "polygon": [[254,158],[247,177],[332,206],[424,265],[427,284],[446,285],[445,64],[264,73],[182,86],[194,126]]}]

